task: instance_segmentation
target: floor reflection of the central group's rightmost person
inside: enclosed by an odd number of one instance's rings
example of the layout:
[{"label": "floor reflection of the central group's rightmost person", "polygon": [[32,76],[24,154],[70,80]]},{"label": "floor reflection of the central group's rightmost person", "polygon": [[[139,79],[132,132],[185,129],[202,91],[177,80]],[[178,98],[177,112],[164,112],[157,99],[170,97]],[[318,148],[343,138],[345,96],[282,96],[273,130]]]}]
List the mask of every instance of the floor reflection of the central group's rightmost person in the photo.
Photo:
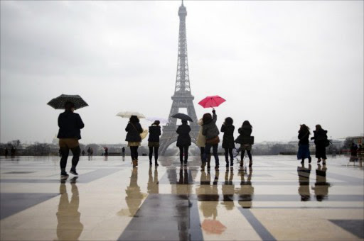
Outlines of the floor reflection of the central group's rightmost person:
[{"label": "floor reflection of the central group's rightmost person", "polygon": [[[245,169],[240,167],[240,189],[237,190],[239,195],[239,201],[237,203],[242,206],[242,208],[252,208],[252,200],[254,195],[254,187],[252,186],[252,167],[249,167],[249,173],[247,173],[247,167]],[[247,174],[247,179],[245,180],[245,174]]]}]

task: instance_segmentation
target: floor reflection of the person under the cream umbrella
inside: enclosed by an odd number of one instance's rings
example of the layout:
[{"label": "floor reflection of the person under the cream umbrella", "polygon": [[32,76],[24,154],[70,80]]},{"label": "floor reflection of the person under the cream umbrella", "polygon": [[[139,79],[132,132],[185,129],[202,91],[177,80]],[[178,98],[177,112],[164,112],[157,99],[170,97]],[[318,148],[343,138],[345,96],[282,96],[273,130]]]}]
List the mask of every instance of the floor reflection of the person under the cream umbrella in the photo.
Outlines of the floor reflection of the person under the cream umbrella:
[{"label": "floor reflection of the person under the cream umbrella", "polygon": [[143,200],[143,194],[141,194],[140,187],[138,186],[138,167],[132,169],[132,176],[130,176],[130,184],[125,190],[127,196],[127,206],[129,208],[129,215],[134,216],[137,213],[141,200]]}]

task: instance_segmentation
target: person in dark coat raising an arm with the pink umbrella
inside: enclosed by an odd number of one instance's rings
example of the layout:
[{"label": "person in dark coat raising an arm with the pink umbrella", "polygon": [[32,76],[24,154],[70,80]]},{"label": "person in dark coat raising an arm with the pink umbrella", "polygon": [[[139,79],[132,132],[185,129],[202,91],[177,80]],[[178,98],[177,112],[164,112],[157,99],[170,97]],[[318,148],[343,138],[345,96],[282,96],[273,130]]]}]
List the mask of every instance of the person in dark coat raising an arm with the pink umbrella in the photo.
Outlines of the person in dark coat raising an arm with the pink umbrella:
[{"label": "person in dark coat raising an arm with the pink umbrella", "polygon": [[215,157],[215,170],[219,169],[219,156],[218,156],[218,145],[219,139],[219,129],[216,126],[216,111],[213,109],[213,116],[210,113],[205,113],[203,115],[203,125],[202,125],[202,135],[205,136],[205,152],[203,153],[203,163],[201,164],[201,169],[205,169],[206,162],[208,163],[208,169],[210,169],[210,155],[211,147],[213,147],[213,156]]}]

